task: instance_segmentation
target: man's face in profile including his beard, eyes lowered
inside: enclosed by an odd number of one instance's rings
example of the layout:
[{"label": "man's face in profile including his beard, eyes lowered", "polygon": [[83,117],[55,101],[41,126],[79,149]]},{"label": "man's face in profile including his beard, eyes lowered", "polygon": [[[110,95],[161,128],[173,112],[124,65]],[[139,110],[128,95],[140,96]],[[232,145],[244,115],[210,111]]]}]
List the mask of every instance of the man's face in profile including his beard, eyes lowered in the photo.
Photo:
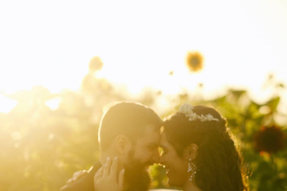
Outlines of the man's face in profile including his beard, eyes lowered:
[{"label": "man's face in profile including his beard, eyes lowered", "polygon": [[159,143],[160,130],[146,127],[129,152],[125,165],[125,180],[129,183],[129,190],[148,190],[151,180],[147,169],[150,165],[158,163]]}]

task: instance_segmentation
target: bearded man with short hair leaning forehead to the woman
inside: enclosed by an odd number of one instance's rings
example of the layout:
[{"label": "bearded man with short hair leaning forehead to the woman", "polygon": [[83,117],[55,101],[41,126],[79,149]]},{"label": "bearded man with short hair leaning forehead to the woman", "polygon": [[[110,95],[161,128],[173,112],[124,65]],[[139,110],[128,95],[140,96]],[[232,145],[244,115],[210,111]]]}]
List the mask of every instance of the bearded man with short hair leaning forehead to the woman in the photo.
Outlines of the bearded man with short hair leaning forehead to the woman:
[{"label": "bearded man with short hair leaning forehead to the woman", "polygon": [[94,191],[94,175],[107,160],[117,159],[124,169],[125,191],[146,191],[151,182],[147,169],[158,163],[162,120],[149,107],[135,102],[118,102],[104,112],[99,126],[100,159],[76,181],[61,191]]}]

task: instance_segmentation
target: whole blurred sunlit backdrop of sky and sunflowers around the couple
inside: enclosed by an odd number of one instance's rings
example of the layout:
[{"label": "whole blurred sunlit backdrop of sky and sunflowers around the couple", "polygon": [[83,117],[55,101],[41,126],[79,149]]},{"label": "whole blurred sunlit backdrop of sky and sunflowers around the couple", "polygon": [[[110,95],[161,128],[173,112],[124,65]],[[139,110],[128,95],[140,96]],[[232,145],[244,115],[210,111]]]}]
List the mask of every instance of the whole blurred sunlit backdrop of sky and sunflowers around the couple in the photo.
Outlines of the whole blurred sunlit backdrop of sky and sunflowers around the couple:
[{"label": "whole blurred sunlit backdrop of sky and sunflowers around the couple", "polygon": [[0,190],[59,190],[88,169],[119,100],[162,117],[215,107],[251,190],[287,190],[286,23],[286,0],[1,1]]}]

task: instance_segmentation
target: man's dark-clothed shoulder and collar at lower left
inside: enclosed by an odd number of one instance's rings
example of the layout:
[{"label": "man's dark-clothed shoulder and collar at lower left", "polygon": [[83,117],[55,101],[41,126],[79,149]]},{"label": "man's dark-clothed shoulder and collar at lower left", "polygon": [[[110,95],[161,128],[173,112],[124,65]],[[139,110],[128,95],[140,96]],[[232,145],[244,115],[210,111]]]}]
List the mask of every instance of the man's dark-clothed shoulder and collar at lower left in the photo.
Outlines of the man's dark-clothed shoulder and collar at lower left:
[{"label": "man's dark-clothed shoulder and collar at lower left", "polygon": [[101,167],[99,162],[94,163],[88,170],[88,174],[72,183],[63,186],[60,191],[94,191],[94,174]]}]

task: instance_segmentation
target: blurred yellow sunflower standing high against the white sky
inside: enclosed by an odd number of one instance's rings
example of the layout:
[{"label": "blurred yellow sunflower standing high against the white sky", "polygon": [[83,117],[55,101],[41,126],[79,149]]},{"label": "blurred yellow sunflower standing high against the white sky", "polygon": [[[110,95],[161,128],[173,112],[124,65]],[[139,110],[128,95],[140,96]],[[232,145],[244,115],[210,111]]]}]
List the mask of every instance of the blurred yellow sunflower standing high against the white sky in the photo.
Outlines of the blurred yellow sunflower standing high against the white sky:
[{"label": "blurred yellow sunflower standing high against the white sky", "polygon": [[191,72],[198,72],[203,68],[203,56],[199,52],[188,52],[186,65]]}]

